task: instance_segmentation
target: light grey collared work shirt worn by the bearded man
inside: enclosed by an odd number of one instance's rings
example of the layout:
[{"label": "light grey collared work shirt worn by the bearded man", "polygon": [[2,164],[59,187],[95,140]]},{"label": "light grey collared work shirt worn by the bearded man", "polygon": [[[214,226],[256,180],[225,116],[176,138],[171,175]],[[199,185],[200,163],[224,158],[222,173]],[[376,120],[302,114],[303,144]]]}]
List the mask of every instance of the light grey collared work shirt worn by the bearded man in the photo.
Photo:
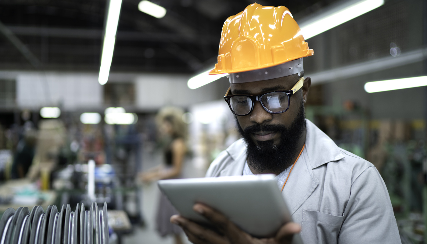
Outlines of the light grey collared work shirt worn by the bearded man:
[{"label": "light grey collared work shirt worn by the bearded man", "polygon": [[[400,244],[390,197],[374,165],[306,121],[305,148],[282,191],[304,244]],[[245,162],[240,139],[219,154],[206,176],[242,175]]]}]

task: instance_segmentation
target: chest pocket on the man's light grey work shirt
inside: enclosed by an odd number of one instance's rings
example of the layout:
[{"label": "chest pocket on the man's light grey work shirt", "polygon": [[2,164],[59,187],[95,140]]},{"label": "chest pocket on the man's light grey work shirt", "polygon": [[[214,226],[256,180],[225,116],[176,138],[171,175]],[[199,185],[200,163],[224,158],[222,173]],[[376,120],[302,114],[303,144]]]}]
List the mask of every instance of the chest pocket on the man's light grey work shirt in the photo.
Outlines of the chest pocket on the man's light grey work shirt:
[{"label": "chest pocket on the man's light grey work shirt", "polygon": [[303,210],[301,238],[304,244],[337,243],[343,220],[344,215],[336,216],[312,210]]}]

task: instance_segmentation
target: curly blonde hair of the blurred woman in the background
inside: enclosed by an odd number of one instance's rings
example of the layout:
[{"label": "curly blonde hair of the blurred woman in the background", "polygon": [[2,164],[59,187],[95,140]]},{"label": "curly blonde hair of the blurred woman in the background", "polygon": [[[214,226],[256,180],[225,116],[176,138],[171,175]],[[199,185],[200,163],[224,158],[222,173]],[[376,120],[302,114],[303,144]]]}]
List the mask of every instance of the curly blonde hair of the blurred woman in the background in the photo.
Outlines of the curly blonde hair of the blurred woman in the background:
[{"label": "curly blonde hair of the blurred woman in the background", "polygon": [[159,110],[156,115],[157,126],[160,127],[161,123],[167,121],[172,126],[172,136],[174,138],[187,138],[187,124],[182,120],[184,110],[167,106]]}]

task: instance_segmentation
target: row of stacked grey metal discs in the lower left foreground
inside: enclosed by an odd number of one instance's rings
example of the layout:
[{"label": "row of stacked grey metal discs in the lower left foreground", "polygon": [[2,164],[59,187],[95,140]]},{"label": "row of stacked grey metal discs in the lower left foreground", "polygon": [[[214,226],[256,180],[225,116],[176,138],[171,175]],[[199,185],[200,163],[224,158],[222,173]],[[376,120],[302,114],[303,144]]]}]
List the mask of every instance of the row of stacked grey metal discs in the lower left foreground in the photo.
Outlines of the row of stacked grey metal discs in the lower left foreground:
[{"label": "row of stacked grey metal discs in the lower left foreground", "polygon": [[46,212],[35,206],[16,211],[9,208],[0,219],[0,244],[108,244],[107,203],[98,209],[92,203],[88,210],[77,204],[61,210],[49,205]]}]

